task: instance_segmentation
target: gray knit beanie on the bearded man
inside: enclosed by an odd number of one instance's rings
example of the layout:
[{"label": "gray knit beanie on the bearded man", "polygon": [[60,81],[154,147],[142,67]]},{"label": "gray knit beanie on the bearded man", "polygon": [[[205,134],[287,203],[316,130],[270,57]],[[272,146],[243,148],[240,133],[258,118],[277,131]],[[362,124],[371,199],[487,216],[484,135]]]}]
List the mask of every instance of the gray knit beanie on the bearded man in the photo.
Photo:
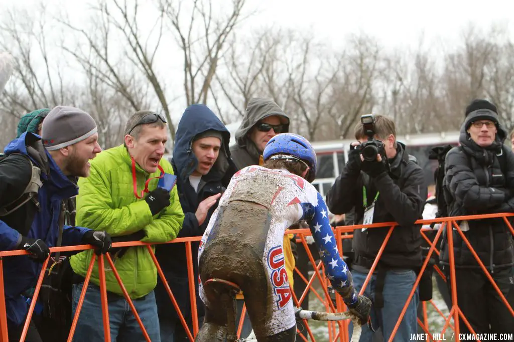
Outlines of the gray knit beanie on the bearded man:
[{"label": "gray knit beanie on the bearded man", "polygon": [[97,132],[95,120],[85,111],[70,107],[54,107],[42,127],[43,144],[48,151],[58,150],[89,138]]}]

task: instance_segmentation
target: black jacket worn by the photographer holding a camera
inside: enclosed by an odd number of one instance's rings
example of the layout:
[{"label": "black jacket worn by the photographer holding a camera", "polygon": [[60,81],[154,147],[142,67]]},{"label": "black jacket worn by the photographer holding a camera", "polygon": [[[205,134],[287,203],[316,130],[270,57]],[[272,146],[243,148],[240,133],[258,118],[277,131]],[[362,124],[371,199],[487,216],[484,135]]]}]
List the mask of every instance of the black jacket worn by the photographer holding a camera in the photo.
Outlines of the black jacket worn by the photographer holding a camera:
[{"label": "black jacket worn by the photographer holding a camera", "polygon": [[[348,164],[326,195],[326,203],[334,214],[350,212],[355,208],[355,222],[362,223],[364,215],[363,186],[371,204],[377,191],[373,222],[395,221],[398,225],[382,257],[380,265],[386,268],[417,268],[421,265],[420,225],[414,222],[422,217],[427,198],[423,169],[410,160],[405,147],[398,143],[395,158],[389,161],[390,172],[375,179],[367,174],[352,173]],[[389,231],[389,227],[355,230],[353,250],[355,263],[371,267],[378,250]]]}]

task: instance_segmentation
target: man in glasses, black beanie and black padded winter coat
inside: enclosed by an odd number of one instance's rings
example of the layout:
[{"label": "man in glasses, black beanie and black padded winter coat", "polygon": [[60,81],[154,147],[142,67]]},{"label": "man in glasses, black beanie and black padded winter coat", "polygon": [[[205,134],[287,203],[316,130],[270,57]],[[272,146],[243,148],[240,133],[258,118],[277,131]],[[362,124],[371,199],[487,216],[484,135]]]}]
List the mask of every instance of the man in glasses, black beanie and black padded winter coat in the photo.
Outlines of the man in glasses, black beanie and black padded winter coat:
[{"label": "man in glasses, black beanie and black padded winter coat", "polygon": [[[445,162],[449,216],[514,211],[514,154],[503,144],[506,137],[492,103],[474,100],[466,108],[459,138],[461,145],[448,152]],[[510,306],[514,307],[512,234],[503,218],[461,221],[459,225]],[[448,274],[450,286],[447,232],[442,241],[440,262]],[[456,230],[452,232],[458,307],[475,333],[513,333],[514,317],[460,234]],[[462,320],[460,329],[469,332]]]}]

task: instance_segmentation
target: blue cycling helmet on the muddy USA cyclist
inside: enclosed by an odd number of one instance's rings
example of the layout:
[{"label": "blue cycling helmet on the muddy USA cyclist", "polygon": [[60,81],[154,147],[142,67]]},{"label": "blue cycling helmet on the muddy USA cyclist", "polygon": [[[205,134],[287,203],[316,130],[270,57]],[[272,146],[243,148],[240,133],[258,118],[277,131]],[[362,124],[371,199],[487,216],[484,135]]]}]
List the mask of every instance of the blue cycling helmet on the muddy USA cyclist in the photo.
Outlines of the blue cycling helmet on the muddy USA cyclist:
[{"label": "blue cycling helmet on the muddy USA cyclist", "polygon": [[264,148],[263,158],[268,160],[271,156],[293,156],[307,163],[310,171],[306,176],[307,181],[316,179],[318,161],[316,151],[307,139],[298,134],[282,133],[271,138]]}]

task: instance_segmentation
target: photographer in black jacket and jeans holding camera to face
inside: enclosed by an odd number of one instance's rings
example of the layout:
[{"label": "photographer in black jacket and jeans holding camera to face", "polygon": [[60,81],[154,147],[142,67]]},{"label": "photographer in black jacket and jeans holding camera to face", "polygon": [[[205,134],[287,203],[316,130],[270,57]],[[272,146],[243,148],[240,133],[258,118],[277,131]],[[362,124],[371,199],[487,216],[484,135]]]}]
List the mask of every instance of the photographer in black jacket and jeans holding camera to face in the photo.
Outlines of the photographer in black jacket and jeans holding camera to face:
[{"label": "photographer in black jacket and jeans holding camera to face", "polygon": [[[371,318],[388,340],[407,302],[419,270],[420,219],[427,198],[423,169],[409,158],[405,145],[396,141],[394,122],[381,115],[364,115],[355,127],[348,162],[326,196],[329,210],[344,214],[355,209],[356,224],[398,223],[384,249],[364,294],[373,300]],[[354,231],[352,265],[359,291],[386,238],[389,227]],[[419,293],[409,303],[395,341],[407,341],[417,331]],[[353,326],[350,328],[352,332]],[[377,332],[378,333],[378,332]],[[360,341],[372,341],[373,332],[362,327]]]}]

